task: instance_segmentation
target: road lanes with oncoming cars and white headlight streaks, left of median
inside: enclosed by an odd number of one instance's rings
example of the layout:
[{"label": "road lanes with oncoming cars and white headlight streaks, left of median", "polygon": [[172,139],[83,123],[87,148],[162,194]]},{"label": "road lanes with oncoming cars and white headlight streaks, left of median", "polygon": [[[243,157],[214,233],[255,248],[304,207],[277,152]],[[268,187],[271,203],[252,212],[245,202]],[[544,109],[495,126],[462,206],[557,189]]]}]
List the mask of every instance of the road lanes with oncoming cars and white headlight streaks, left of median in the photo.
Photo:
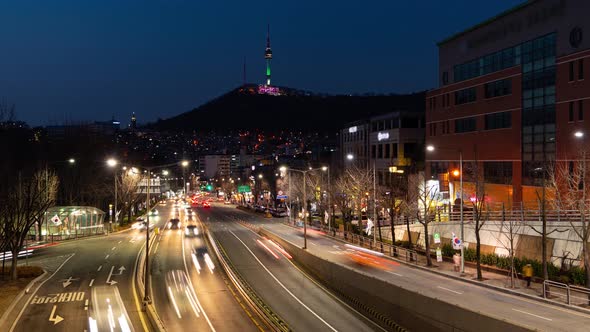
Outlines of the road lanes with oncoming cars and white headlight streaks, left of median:
[{"label": "road lanes with oncoming cars and white headlight streaks, left of median", "polygon": [[[203,238],[202,227],[193,215],[172,204],[157,209],[163,218],[179,217],[181,221],[180,229],[163,229],[151,251],[152,298],[166,329],[257,331],[245,308],[234,298],[231,285],[225,283],[215,255]],[[197,235],[185,235],[189,223],[197,226]],[[188,276],[188,285],[183,286],[188,294],[168,290],[166,276],[172,275],[172,271]]]}]

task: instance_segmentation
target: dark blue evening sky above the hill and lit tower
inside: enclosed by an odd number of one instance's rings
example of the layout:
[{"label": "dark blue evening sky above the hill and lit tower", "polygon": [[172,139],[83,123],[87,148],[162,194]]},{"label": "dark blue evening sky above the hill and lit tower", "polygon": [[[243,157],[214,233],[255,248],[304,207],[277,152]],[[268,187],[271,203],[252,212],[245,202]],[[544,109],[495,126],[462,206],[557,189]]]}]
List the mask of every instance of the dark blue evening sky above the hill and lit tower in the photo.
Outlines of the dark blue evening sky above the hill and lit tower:
[{"label": "dark blue evening sky above the hill and lit tower", "polygon": [[505,1],[2,0],[0,98],[32,125],[140,122],[264,79],[328,93],[436,85],[436,42]]}]

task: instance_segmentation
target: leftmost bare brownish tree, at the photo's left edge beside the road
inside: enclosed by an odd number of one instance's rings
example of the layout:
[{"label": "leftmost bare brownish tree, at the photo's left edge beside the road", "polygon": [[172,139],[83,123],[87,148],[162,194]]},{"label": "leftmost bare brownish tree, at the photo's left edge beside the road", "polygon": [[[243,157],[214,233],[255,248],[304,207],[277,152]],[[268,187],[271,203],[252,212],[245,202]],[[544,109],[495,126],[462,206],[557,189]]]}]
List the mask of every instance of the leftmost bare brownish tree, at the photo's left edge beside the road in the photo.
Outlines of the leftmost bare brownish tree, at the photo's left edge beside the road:
[{"label": "leftmost bare brownish tree, at the photo's left edge beside the road", "polygon": [[7,248],[12,253],[10,274],[13,280],[18,278],[18,253],[31,227],[41,223],[47,209],[54,204],[57,187],[57,176],[45,170],[36,171],[30,177],[19,173],[14,187],[2,190],[0,222]]}]

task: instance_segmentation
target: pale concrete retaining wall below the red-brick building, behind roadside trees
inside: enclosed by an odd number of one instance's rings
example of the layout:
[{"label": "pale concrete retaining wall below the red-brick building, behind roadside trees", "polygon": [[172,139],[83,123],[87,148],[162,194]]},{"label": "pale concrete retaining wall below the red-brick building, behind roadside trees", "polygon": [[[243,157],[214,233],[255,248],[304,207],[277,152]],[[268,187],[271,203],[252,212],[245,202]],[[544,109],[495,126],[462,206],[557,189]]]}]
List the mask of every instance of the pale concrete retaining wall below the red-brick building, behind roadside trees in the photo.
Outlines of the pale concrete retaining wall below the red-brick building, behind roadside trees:
[{"label": "pale concrete retaining wall below the red-brick building, behind roadside trees", "polygon": [[[515,237],[515,249],[517,256],[524,256],[527,258],[535,258],[541,260],[541,237],[535,230],[541,230],[541,223],[527,223],[516,227],[514,233],[522,236]],[[498,222],[486,222],[481,230],[481,243],[484,245],[485,252],[494,252],[498,255],[508,255],[509,232],[508,225]],[[576,259],[574,264],[577,265],[582,258],[582,242],[572,229],[571,225],[566,222],[551,222],[548,223],[547,231],[551,232],[558,229],[559,232],[553,232],[548,236],[548,254],[550,261],[556,266],[561,266],[561,257],[565,253],[570,253],[569,258]],[[410,231],[412,232],[412,239],[414,239],[414,232],[419,233],[418,244],[424,246],[424,227],[419,224],[411,224]],[[381,228],[384,239],[391,239],[391,228],[389,226]],[[441,241],[450,243],[452,234],[455,233],[458,237],[461,234],[461,227],[456,222],[432,222],[429,224],[428,234],[430,234],[430,241],[432,241],[432,234],[440,233]],[[398,225],[395,227],[396,240],[407,240],[406,226]],[[473,223],[465,223],[465,245],[467,248],[475,248],[475,228]],[[431,242],[432,243],[432,242]]]}]

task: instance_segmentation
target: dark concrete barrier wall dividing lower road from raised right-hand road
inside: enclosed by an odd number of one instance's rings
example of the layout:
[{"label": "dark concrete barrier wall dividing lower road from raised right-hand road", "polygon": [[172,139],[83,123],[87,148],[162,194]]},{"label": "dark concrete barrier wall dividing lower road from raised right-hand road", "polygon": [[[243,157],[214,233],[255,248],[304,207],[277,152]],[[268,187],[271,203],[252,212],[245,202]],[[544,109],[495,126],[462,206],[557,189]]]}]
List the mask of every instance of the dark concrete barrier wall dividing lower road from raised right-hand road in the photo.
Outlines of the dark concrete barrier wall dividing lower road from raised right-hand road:
[{"label": "dark concrete barrier wall dividing lower road from raised right-hand road", "polygon": [[529,331],[501,318],[412,292],[321,259],[266,229],[260,229],[259,233],[281,244],[308,273],[388,330]]}]

